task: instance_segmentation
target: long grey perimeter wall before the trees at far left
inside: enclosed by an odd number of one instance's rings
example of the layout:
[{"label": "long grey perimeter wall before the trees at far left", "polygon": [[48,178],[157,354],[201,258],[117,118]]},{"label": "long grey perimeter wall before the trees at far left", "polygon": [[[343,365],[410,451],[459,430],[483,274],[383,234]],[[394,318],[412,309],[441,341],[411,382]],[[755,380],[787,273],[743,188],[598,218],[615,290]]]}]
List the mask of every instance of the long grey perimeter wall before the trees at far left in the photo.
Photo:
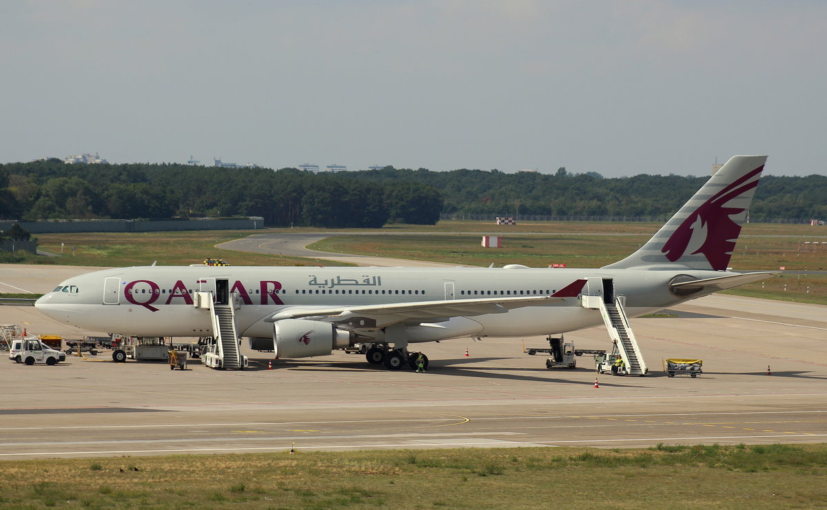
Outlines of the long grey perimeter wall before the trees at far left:
[{"label": "long grey perimeter wall before the trees at far left", "polygon": [[14,223],[31,234],[63,232],[166,232],[199,230],[255,230],[264,227],[264,218],[203,219],[203,220],[55,220],[42,222],[0,222],[0,230],[6,231]]}]

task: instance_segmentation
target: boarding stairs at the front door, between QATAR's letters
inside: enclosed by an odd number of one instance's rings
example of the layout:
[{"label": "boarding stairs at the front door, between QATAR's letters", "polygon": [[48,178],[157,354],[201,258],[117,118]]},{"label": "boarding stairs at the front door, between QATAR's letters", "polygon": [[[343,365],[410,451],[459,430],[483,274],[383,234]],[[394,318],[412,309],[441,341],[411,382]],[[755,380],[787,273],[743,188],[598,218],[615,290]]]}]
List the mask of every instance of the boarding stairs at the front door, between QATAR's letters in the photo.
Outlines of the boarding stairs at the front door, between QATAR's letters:
[{"label": "boarding stairs at the front door, between QATAR's letters", "polygon": [[202,356],[204,365],[213,369],[245,369],[247,359],[239,350],[236,326],[237,296],[232,296],[230,304],[222,304],[213,303],[213,293],[197,294],[194,305],[198,308],[207,308],[213,324],[214,343]]}]

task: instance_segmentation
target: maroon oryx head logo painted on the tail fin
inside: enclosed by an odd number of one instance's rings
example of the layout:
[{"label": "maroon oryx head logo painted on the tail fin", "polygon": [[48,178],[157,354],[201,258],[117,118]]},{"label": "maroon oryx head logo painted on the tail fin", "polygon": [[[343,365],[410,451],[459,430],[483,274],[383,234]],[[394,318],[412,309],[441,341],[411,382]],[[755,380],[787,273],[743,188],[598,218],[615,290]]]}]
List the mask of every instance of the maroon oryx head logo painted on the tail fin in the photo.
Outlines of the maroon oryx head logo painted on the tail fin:
[{"label": "maroon oryx head logo painted on the tail fin", "polygon": [[741,226],[730,216],[744,211],[743,207],[726,207],[726,204],[758,186],[758,180],[748,181],[763,169],[764,166],[761,165],[727,185],[686,217],[663,245],[661,251],[667,259],[675,262],[687,250],[691,250],[689,255],[703,254],[712,269],[726,269],[735,248],[735,240],[741,232]]}]

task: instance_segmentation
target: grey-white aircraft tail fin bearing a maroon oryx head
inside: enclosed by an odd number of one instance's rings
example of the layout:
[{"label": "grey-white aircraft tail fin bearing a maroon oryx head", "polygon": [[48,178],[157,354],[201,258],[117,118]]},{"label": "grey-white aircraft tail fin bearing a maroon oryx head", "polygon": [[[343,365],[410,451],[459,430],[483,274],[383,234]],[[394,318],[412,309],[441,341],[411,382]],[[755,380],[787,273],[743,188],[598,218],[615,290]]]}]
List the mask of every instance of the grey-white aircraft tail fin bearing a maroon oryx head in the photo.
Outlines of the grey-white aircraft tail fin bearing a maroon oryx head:
[{"label": "grey-white aircraft tail fin bearing a maroon oryx head", "polygon": [[607,269],[724,270],[767,156],[733,156],[638,251]]}]

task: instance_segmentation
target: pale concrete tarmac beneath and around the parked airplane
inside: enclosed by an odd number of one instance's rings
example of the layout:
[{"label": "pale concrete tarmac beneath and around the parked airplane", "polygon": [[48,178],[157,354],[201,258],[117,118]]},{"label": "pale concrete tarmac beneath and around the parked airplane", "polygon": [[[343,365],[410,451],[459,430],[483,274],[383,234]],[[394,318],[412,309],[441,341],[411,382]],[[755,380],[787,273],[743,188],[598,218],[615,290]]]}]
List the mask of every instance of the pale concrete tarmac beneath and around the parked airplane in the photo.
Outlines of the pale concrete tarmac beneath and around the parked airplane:
[{"label": "pale concrete tarmac beneath and around the parked airplane", "polygon": [[[0,290],[45,292],[94,269],[0,265]],[[544,355],[523,353],[546,346],[543,337],[421,344],[427,374],[342,352],[269,369],[267,353],[247,350],[243,371],[115,364],[107,350],[56,366],[0,360],[0,459],[825,441],[827,307],[719,294],[664,313],[631,321],[646,377],[598,375],[589,355],[576,369],[546,369]],[[34,307],[2,306],[0,323],[65,338],[104,333]],[[602,327],[566,341],[610,348]],[[703,373],[668,378],[665,358],[703,360]]]}]

